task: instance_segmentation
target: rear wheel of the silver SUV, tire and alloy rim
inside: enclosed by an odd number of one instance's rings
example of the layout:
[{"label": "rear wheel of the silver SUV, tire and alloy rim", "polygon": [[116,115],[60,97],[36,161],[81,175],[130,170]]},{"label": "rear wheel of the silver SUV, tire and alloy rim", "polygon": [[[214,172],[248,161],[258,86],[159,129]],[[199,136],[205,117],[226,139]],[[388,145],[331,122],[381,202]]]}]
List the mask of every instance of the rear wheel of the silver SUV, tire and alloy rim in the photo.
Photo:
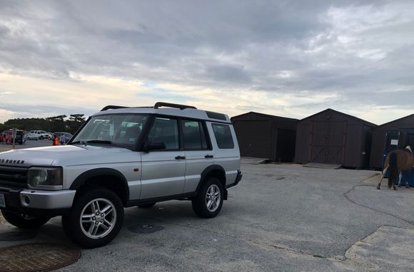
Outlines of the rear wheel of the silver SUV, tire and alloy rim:
[{"label": "rear wheel of the silver SUV, tire and alloy rim", "polygon": [[215,177],[209,177],[191,204],[193,211],[202,218],[217,216],[223,206],[223,185]]}]

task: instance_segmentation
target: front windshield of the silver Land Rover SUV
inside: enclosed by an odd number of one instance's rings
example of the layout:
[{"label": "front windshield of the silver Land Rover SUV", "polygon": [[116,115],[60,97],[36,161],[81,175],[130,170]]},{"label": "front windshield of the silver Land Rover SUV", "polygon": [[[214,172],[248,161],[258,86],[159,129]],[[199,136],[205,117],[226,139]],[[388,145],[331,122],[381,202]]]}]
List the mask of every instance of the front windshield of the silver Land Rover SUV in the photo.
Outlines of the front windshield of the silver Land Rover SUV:
[{"label": "front windshield of the silver Land Rover SUV", "polygon": [[103,144],[126,147],[133,150],[148,115],[117,114],[91,117],[72,143]]}]

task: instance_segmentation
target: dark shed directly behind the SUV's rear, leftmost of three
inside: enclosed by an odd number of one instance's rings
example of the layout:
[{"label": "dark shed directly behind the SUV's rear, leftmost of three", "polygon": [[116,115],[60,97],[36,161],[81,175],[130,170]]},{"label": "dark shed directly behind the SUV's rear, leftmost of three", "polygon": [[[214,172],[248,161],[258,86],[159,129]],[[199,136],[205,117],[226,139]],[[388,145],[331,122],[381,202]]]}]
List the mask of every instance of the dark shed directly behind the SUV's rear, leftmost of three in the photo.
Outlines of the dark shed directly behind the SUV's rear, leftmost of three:
[{"label": "dark shed directly behind the SUV's rear, leftmost of three", "polygon": [[245,113],[231,117],[242,157],[293,162],[297,119]]}]

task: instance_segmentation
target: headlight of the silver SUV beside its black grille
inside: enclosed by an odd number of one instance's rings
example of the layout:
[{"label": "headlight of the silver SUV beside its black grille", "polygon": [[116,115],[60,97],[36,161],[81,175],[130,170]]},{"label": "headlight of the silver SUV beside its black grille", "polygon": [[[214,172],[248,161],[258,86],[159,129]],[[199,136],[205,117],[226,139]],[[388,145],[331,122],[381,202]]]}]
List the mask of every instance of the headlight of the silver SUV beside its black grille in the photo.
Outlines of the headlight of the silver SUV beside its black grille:
[{"label": "headlight of the silver SUV beside its black grille", "polygon": [[32,189],[62,189],[62,169],[60,167],[31,167],[27,180],[29,188]]}]

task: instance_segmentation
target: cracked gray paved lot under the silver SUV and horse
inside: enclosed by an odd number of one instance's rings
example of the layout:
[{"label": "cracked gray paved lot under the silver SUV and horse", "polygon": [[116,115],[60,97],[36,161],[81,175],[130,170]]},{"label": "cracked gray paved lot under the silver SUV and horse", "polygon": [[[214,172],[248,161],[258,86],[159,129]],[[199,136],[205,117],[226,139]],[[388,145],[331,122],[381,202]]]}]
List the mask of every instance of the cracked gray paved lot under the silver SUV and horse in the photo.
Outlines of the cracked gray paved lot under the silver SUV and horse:
[{"label": "cracked gray paved lot under the silver SUV and horse", "polygon": [[[413,271],[414,188],[375,189],[378,173],[242,164],[214,219],[190,202],[126,209],[118,237],[62,271]],[[160,226],[135,234],[131,226]],[[0,233],[14,229],[0,225]],[[52,219],[35,239],[71,244]]]}]

